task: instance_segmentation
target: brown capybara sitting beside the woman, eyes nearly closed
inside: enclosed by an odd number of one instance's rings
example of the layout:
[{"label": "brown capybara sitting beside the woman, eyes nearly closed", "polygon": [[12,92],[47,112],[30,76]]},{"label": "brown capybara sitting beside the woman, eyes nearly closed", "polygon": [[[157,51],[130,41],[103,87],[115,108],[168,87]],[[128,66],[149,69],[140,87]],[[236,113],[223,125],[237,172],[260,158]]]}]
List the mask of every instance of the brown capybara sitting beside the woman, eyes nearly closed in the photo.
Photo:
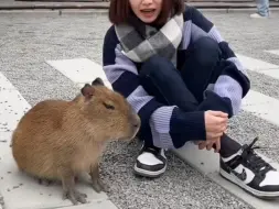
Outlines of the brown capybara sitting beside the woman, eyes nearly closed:
[{"label": "brown capybara sitting beside the woman, eyes nearly closed", "polygon": [[62,180],[63,198],[86,202],[75,176],[88,173],[93,188],[104,190],[98,161],[109,141],[131,140],[140,119],[118,92],[100,78],[85,85],[72,101],[44,100],[20,120],[12,135],[18,167],[40,179]]}]

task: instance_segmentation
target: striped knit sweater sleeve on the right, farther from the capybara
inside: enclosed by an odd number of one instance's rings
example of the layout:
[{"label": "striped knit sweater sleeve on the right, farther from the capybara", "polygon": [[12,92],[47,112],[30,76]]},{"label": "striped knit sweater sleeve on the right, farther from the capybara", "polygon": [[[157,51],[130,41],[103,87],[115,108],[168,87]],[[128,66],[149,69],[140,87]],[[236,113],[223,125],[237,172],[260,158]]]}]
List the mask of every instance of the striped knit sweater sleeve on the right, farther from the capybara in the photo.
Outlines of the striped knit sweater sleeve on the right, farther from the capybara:
[{"label": "striped knit sweater sleeve on the right, farther from the capybara", "polygon": [[223,59],[223,72],[214,88],[205,92],[206,99],[201,103],[200,109],[221,110],[228,113],[230,118],[239,112],[242,99],[250,89],[247,70],[216,26],[195,8],[190,8],[190,10],[192,10],[190,12],[192,20],[191,38],[196,40],[202,35],[212,37],[218,43]]}]

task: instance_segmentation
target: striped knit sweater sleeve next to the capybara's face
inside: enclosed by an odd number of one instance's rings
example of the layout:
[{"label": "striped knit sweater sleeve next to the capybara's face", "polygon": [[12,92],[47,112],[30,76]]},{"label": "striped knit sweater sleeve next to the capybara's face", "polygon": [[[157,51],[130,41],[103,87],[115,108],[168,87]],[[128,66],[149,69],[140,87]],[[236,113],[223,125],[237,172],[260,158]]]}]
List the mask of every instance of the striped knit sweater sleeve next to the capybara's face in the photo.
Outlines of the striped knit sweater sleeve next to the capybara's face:
[{"label": "striped knit sweater sleeve next to the capybara's face", "polygon": [[147,94],[139,82],[136,65],[121,53],[114,26],[105,35],[105,74],[115,91],[120,92],[141,119],[142,136],[163,148],[178,148],[186,141],[205,140],[204,111],[183,112],[164,106]]}]

